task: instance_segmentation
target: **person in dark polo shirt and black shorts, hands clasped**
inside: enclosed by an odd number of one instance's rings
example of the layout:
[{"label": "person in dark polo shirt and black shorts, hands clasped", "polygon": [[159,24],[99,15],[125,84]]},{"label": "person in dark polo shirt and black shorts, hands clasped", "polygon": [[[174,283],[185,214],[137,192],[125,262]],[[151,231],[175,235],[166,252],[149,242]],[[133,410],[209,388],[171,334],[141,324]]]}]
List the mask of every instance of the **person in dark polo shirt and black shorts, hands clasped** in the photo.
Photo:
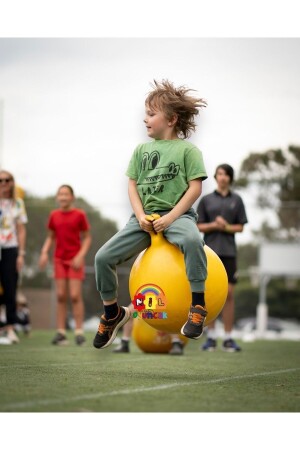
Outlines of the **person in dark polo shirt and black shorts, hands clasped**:
[{"label": "person in dark polo shirt and black shorts, hands clasped", "polygon": [[[217,188],[201,197],[198,207],[198,228],[204,233],[204,242],[221,259],[228,276],[228,295],[222,310],[224,325],[223,350],[240,351],[232,339],[234,325],[234,286],[237,283],[237,247],[235,233],[241,233],[248,222],[242,198],[232,191],[234,170],[229,164],[220,164],[215,171]],[[207,326],[207,341],[202,350],[213,351],[217,346],[215,322]]]}]

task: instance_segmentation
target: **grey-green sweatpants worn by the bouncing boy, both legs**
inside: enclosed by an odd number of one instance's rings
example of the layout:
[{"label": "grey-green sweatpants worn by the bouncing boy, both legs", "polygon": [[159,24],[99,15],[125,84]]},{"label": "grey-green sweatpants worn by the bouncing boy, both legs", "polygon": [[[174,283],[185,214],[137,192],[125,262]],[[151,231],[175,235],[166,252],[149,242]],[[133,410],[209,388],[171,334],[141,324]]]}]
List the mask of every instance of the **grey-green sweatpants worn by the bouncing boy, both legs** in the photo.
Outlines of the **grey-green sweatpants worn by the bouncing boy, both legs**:
[{"label": "grey-green sweatpants worn by the bouncing boy, both legs", "polygon": [[[157,213],[162,216],[167,212],[158,211]],[[166,228],[163,234],[184,255],[191,291],[204,292],[207,261],[196,218],[197,214],[191,208]],[[95,272],[97,290],[102,300],[113,300],[118,296],[116,266],[138,255],[149,247],[150,243],[150,234],[140,228],[133,214],[125,227],[98,250],[95,257]]]}]

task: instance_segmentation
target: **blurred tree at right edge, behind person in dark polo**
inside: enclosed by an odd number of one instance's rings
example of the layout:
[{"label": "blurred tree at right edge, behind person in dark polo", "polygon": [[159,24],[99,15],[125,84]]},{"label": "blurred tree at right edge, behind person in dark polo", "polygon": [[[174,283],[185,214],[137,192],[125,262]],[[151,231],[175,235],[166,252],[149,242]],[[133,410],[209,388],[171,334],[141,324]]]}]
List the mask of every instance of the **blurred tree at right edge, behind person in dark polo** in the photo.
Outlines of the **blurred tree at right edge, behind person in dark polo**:
[{"label": "blurred tree at right edge, behind person in dark polo", "polygon": [[241,164],[237,188],[252,189],[259,208],[278,217],[275,228],[263,223],[259,234],[269,240],[300,239],[300,147],[251,153]]}]

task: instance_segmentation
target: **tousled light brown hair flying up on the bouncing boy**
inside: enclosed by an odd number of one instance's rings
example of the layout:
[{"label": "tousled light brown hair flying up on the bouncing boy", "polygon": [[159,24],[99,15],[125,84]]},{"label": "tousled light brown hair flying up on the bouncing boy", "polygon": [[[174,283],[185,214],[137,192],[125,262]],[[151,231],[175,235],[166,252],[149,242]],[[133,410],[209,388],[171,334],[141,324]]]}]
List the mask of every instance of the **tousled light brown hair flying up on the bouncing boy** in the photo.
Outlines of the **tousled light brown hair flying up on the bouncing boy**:
[{"label": "tousled light brown hair flying up on the bouncing boy", "polygon": [[195,131],[195,116],[199,114],[199,109],[207,105],[202,98],[187,95],[194,91],[185,86],[174,87],[168,80],[158,83],[154,80],[153,90],[148,93],[145,104],[154,109],[163,111],[168,120],[176,114],[178,119],[175,130],[179,135],[187,138],[191,131]]}]

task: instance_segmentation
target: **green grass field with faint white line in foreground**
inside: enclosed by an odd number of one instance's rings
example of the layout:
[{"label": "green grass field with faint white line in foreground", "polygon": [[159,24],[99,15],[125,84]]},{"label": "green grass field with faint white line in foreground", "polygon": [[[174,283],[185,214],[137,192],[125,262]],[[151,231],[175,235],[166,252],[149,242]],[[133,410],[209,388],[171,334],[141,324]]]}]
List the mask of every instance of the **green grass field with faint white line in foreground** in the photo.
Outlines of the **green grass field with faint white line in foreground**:
[{"label": "green grass field with faint white line in foreground", "polygon": [[[183,356],[50,344],[36,331],[0,345],[1,412],[299,412],[299,342],[242,343],[240,353]],[[204,338],[203,338],[204,339]]]}]

